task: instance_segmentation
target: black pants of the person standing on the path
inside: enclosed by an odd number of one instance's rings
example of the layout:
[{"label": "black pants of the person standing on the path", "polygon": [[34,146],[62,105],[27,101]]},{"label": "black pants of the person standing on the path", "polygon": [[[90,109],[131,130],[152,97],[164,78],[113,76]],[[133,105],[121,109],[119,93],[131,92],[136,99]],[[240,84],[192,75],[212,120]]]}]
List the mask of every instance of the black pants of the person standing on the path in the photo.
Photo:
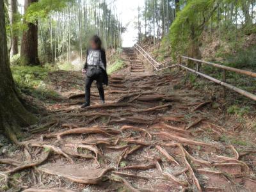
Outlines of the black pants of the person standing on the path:
[{"label": "black pants of the person standing on the path", "polygon": [[[90,69],[89,69],[90,70]],[[90,74],[90,72],[89,72]],[[103,74],[100,73],[92,73],[90,76],[86,76],[85,79],[85,102],[90,104],[90,97],[91,97],[91,86],[93,81],[97,81],[97,88],[100,94],[100,100],[104,101],[104,89],[103,89]]]}]

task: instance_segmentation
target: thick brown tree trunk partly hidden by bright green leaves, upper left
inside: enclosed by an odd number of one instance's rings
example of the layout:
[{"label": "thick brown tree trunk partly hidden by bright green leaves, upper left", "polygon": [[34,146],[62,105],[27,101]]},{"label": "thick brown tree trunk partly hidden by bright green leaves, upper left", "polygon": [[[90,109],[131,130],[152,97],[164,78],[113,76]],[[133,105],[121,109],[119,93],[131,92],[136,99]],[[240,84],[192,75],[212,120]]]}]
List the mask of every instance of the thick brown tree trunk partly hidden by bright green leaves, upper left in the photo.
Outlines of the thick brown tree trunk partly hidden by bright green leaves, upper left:
[{"label": "thick brown tree trunk partly hidden by bright green leaves, upper left", "polygon": [[[24,13],[28,10],[31,3],[36,3],[38,0],[25,0]],[[20,62],[22,65],[40,65],[38,59],[38,27],[36,24],[26,22],[28,29],[22,34],[22,42],[20,48]]]}]

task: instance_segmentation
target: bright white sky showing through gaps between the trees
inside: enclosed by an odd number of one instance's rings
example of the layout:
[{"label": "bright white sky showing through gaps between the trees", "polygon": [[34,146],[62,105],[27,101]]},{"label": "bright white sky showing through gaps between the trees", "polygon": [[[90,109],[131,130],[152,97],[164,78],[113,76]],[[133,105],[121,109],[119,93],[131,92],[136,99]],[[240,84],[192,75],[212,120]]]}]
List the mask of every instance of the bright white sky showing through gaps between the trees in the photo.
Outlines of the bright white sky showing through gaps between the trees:
[{"label": "bright white sky showing through gaps between the trees", "polygon": [[[93,1],[93,0],[90,0]],[[18,0],[19,12],[23,13],[24,0]],[[116,11],[127,30],[122,35],[123,47],[132,47],[138,38],[138,6],[143,7],[145,0],[116,0]]]}]

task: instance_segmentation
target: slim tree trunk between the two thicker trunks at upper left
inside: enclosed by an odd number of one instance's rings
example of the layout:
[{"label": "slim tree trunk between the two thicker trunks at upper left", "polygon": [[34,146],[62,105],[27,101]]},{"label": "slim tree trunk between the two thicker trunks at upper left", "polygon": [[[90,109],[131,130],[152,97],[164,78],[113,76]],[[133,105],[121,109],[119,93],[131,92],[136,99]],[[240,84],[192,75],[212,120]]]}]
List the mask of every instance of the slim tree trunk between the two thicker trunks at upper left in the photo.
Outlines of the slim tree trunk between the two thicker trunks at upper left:
[{"label": "slim tree trunk between the two thicker trunks at upper left", "polygon": [[17,31],[13,28],[13,24],[17,21],[17,12],[18,12],[18,6],[17,6],[17,0],[9,0],[10,3],[10,22],[12,26],[12,47],[10,56],[12,57],[15,54],[19,53],[18,49],[18,35]]}]

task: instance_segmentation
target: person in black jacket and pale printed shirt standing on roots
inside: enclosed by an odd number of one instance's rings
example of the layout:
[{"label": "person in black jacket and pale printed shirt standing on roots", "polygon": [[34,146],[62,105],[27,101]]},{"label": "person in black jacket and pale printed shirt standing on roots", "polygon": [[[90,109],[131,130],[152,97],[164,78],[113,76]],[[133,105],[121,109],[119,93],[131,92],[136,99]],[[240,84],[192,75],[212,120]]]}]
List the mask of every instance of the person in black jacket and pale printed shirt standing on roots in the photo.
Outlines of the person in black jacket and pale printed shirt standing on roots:
[{"label": "person in black jacket and pale printed shirt standing on roots", "polygon": [[85,78],[85,102],[81,108],[90,106],[91,86],[93,81],[97,81],[97,88],[102,104],[105,103],[103,84],[108,85],[108,75],[106,72],[107,61],[106,52],[101,47],[102,42],[99,36],[95,35],[90,40],[90,48],[87,50],[86,62],[83,67]]}]

